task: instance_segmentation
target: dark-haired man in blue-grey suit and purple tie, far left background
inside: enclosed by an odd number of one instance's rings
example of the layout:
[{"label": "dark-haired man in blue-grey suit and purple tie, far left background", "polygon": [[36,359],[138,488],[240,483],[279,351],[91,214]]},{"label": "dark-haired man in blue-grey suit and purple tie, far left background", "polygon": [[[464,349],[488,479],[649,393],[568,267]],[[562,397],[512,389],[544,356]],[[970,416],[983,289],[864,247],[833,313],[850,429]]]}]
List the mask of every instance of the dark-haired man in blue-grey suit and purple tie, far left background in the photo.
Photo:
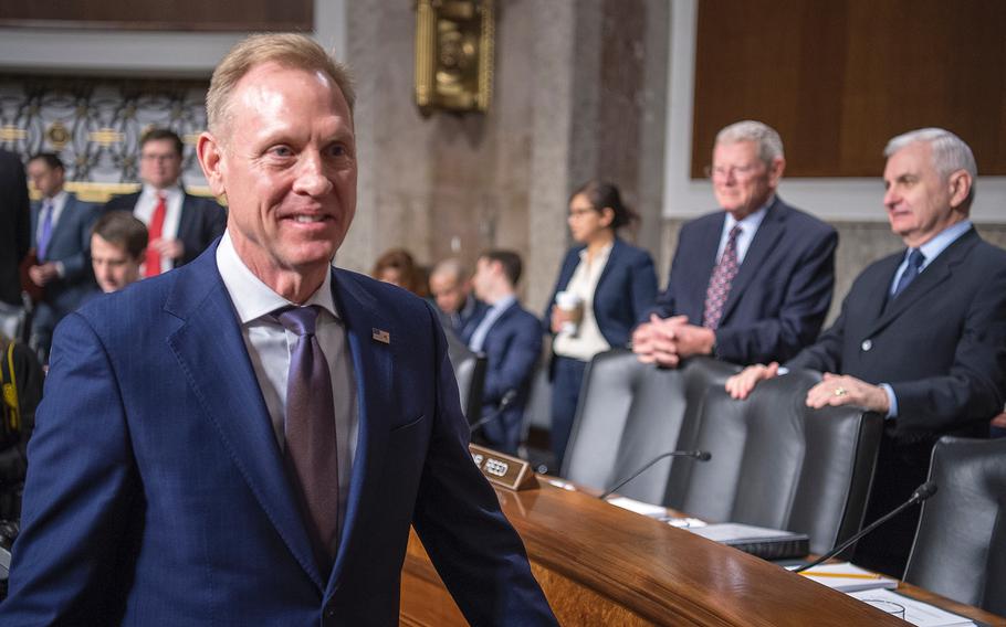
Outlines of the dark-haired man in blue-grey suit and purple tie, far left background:
[{"label": "dark-haired man in blue-grey suit and purple tie, far left background", "polygon": [[38,264],[28,268],[28,276],[45,290],[35,305],[31,325],[32,348],[44,360],[53,329],[94,289],[88,252],[91,226],[97,220],[98,208],[63,189],[66,178],[63,161],[52,152],[29,159],[28,178],[42,195],[31,206]]}]

